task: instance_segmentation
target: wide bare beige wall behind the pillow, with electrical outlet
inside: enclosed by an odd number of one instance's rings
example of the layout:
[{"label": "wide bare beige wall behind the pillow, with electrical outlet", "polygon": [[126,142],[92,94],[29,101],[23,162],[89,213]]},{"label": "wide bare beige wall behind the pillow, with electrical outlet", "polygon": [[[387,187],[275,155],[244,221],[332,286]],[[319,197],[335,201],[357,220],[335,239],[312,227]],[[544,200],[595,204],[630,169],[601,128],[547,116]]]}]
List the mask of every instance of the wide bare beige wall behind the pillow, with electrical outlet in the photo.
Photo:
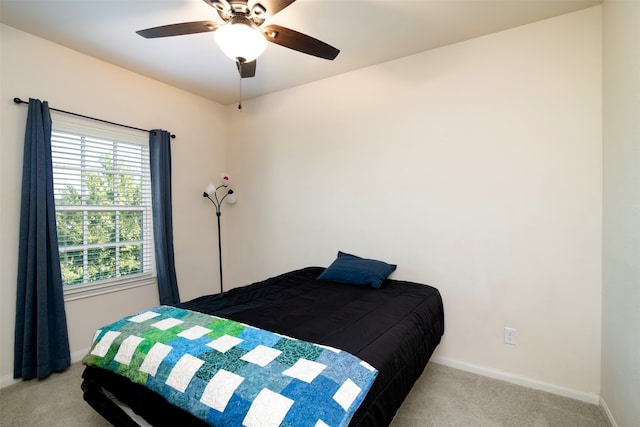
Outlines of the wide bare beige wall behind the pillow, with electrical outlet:
[{"label": "wide bare beige wall behind the pillow, with electrical outlet", "polygon": [[397,263],[436,360],[597,402],[601,59],[595,7],[229,106],[228,283]]}]

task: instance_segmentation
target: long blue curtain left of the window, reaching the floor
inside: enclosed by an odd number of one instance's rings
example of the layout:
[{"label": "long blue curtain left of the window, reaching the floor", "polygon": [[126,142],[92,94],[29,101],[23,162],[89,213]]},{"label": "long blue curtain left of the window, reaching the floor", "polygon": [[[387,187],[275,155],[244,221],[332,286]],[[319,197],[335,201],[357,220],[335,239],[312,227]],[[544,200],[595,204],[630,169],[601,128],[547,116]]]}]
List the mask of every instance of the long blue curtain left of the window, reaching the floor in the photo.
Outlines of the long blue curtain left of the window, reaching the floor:
[{"label": "long blue curtain left of the window, reaching the floor", "polygon": [[29,99],[24,138],[14,378],[44,378],[69,367],[60,274],[47,102]]}]

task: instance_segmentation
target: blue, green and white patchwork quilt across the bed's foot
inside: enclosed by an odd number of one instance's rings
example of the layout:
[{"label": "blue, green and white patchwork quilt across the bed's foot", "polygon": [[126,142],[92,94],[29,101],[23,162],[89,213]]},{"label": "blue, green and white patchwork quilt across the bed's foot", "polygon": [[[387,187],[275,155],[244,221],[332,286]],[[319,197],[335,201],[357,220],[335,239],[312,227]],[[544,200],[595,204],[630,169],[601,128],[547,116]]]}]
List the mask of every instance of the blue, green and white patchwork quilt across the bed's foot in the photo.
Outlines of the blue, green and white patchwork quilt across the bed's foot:
[{"label": "blue, green and white patchwork quilt across the bed's foot", "polygon": [[99,329],[83,363],[213,426],[346,426],[378,374],[339,349],[170,306]]}]

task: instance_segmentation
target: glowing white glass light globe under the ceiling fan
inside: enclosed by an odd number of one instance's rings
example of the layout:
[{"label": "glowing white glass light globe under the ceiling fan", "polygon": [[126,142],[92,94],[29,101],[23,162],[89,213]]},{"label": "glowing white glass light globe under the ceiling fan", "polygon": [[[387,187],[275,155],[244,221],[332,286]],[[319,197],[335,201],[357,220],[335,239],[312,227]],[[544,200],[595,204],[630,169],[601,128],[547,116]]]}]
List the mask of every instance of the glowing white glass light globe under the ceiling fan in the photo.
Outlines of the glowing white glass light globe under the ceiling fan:
[{"label": "glowing white glass light globe under the ceiling fan", "polygon": [[267,48],[267,40],[260,30],[244,22],[230,22],[213,33],[213,37],[232,60],[251,62],[257,59]]}]

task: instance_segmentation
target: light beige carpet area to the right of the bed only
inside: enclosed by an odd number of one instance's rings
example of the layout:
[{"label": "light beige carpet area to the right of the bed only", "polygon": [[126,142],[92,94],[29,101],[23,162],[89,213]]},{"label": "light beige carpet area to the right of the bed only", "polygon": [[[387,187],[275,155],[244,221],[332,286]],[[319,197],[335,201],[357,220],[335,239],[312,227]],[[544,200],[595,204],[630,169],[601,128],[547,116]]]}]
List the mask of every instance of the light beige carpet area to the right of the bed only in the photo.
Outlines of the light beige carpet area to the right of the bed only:
[{"label": "light beige carpet area to the right of the bed only", "polygon": [[391,427],[609,427],[596,405],[429,363]]}]

